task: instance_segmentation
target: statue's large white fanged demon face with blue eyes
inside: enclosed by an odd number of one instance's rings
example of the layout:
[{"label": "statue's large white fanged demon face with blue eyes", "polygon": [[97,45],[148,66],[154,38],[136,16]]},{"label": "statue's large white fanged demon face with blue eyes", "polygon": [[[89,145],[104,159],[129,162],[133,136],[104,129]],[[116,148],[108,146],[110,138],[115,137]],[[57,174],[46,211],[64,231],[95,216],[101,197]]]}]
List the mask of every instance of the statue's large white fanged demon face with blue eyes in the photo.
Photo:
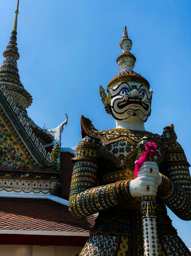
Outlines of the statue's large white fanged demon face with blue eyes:
[{"label": "statue's large white fanged demon face with blue eyes", "polygon": [[111,111],[116,120],[127,120],[131,116],[137,116],[143,122],[151,111],[152,90],[141,83],[121,82],[112,88]]}]

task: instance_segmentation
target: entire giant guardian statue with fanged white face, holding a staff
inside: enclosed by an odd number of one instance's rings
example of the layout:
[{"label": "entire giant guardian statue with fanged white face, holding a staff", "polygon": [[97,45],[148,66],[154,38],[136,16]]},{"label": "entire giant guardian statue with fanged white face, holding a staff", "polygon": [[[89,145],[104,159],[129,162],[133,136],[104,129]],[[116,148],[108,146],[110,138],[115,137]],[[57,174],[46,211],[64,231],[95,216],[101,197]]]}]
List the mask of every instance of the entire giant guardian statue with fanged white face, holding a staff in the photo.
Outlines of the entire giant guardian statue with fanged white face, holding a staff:
[{"label": "entire giant guardian statue with fanged white face, holding a staff", "polygon": [[[125,26],[119,44],[120,72],[107,93],[100,86],[116,127],[98,131],[82,116],[83,139],[73,158],[69,210],[77,218],[99,213],[80,256],[188,256],[166,206],[180,219],[191,220],[190,165],[173,124],[162,135],[145,131],[153,90],[133,71],[136,58]],[[136,176],[135,162],[147,142],[155,145],[155,153]]]}]

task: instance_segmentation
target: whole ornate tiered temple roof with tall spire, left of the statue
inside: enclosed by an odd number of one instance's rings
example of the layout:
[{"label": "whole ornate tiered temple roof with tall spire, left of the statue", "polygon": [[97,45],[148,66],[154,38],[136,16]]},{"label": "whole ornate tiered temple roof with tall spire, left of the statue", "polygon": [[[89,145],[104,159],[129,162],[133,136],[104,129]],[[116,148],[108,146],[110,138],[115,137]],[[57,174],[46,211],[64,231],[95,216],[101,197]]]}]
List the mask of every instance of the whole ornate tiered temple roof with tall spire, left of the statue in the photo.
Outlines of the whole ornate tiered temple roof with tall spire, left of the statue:
[{"label": "whole ornate tiered temple roof with tall spire, left of the statue", "polygon": [[[32,96],[24,89],[17,67],[19,0],[15,13],[0,68],[0,244],[19,244],[20,239],[31,245],[83,246],[96,217],[76,220],[68,210],[75,153],[61,150],[68,116],[48,130],[28,116]],[[71,237],[76,239],[71,242]]]}]

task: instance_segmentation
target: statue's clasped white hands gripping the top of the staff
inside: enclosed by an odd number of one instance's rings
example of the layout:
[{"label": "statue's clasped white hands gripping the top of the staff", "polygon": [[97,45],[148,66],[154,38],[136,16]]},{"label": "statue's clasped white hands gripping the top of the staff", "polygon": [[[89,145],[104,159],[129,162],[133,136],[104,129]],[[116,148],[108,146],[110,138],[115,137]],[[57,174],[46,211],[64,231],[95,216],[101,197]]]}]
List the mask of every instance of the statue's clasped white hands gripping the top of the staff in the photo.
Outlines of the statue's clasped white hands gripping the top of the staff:
[{"label": "statue's clasped white hands gripping the top of the staff", "polygon": [[130,194],[133,197],[156,196],[161,181],[158,165],[155,162],[144,162],[139,169],[138,177],[129,184]]}]

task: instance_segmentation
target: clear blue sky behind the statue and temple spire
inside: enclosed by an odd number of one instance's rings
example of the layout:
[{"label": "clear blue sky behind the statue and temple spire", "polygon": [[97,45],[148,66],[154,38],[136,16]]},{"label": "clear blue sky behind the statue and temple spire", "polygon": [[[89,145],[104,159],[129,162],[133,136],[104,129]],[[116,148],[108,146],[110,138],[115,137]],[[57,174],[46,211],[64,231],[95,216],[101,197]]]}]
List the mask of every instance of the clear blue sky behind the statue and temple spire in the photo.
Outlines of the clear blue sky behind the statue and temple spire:
[{"label": "clear blue sky behind the statue and temple spire", "polygon": [[[0,52],[11,34],[16,0],[0,1]],[[137,58],[134,71],[153,88],[152,113],[146,130],[161,134],[173,123],[191,162],[191,1],[190,0],[20,0],[18,15],[19,74],[33,96],[28,114],[39,126],[57,127],[68,114],[62,147],[81,139],[80,116],[99,130],[114,128],[99,85],[107,87],[119,73],[123,26]],[[0,65],[3,56],[0,55]],[[173,225],[191,247],[191,221]]]}]

